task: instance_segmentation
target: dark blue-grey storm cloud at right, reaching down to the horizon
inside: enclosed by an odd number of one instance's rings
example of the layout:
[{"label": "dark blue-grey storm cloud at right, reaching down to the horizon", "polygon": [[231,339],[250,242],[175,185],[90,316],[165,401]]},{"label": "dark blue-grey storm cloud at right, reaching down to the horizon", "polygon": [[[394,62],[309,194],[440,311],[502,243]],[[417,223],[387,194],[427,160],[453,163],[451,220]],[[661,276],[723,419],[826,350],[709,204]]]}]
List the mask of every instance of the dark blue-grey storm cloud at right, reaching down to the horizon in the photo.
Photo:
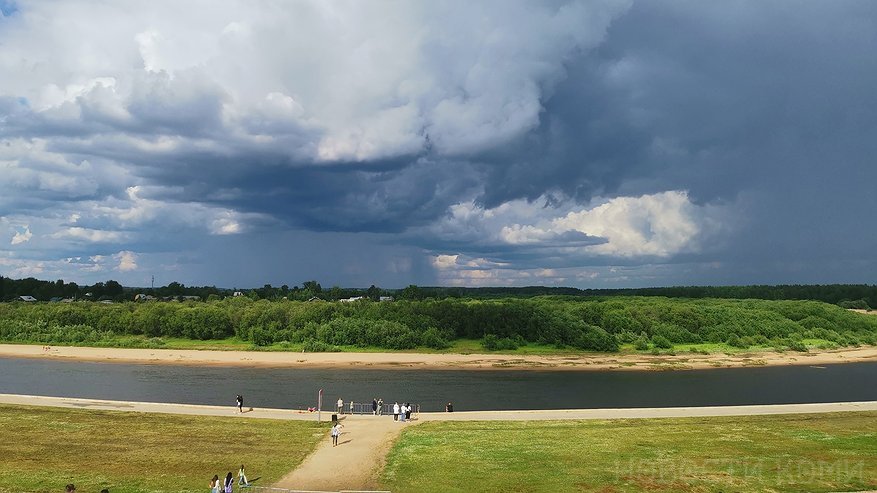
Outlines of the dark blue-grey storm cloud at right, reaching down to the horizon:
[{"label": "dark blue-grey storm cloud at right, reaching down to the horizon", "polygon": [[725,282],[873,281],[875,45],[873,2],[637,2],[484,160],[481,200],[688,190],[746,217],[708,256]]}]

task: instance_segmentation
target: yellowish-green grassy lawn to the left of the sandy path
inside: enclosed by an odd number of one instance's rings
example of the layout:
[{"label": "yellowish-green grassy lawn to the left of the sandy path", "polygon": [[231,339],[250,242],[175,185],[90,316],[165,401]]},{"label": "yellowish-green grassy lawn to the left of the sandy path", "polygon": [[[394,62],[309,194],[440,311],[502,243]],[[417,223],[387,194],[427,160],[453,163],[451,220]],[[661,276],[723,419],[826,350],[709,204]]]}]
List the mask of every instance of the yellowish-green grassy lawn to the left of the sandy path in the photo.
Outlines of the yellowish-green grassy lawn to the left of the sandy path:
[{"label": "yellowish-green grassy lawn to the left of the sandy path", "polygon": [[[325,430],[316,423],[0,405],[0,491],[207,491],[241,464],[269,485]],[[235,490],[237,491],[237,489]]]}]

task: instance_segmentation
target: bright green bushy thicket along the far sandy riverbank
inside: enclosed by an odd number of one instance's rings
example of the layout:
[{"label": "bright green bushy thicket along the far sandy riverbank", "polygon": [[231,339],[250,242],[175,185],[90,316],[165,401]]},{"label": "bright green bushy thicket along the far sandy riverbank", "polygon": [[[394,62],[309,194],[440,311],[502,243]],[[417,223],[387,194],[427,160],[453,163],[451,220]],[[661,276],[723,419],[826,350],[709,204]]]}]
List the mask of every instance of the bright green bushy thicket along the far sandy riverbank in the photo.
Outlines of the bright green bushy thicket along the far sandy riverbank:
[{"label": "bright green bushy thicket along the far sandy riverbank", "polygon": [[0,304],[2,341],[118,345],[124,335],[157,345],[166,337],[237,336],[307,351],[442,349],[456,339],[480,339],[486,349],[536,343],[615,351],[625,343],[650,349],[709,342],[806,350],[805,339],[875,344],[877,317],[816,301],[663,297]]}]

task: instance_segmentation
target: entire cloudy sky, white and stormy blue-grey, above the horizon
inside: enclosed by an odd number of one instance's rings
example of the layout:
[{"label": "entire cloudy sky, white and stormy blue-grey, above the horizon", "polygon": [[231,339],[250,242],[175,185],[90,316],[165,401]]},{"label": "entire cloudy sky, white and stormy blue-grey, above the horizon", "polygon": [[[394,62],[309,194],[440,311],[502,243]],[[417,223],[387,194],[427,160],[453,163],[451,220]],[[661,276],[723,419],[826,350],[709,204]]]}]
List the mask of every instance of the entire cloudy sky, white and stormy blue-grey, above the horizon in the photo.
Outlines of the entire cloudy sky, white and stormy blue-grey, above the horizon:
[{"label": "entire cloudy sky, white and stormy blue-grey, above the horizon", "polygon": [[877,3],[0,0],[0,274],[877,282]]}]

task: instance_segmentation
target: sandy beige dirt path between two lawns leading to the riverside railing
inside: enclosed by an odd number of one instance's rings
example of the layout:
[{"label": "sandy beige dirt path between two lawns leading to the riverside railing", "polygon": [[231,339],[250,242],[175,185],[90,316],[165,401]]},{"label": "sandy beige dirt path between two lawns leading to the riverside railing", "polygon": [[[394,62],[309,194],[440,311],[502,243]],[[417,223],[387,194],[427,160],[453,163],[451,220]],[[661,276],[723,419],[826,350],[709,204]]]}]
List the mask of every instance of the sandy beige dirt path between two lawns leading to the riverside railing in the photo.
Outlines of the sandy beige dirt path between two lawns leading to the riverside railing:
[{"label": "sandy beige dirt path between two lawns leading to the riverside railing", "polygon": [[378,488],[378,474],[399,433],[411,423],[392,416],[345,416],[338,446],[326,438],[294,471],[274,486],[295,490],[341,491]]}]

